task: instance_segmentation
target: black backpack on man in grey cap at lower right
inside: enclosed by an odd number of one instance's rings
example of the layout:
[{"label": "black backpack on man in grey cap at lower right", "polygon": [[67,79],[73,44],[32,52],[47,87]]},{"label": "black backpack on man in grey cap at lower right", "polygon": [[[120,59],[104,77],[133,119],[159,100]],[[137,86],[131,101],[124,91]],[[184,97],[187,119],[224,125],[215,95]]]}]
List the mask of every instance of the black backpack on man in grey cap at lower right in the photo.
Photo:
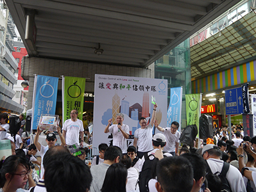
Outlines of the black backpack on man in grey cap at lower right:
[{"label": "black backpack on man in grey cap at lower right", "polygon": [[[213,174],[212,170],[210,170],[210,166],[207,163],[207,161],[206,161],[206,164],[207,164],[207,173]],[[222,182],[221,191],[222,192],[232,192],[232,190],[230,188],[230,184],[228,183],[228,180],[226,179],[226,173],[229,170],[229,166],[230,166],[229,163],[224,162],[221,173],[219,173],[219,172],[214,173],[214,175],[218,175],[219,179],[221,179],[221,182]]]}]

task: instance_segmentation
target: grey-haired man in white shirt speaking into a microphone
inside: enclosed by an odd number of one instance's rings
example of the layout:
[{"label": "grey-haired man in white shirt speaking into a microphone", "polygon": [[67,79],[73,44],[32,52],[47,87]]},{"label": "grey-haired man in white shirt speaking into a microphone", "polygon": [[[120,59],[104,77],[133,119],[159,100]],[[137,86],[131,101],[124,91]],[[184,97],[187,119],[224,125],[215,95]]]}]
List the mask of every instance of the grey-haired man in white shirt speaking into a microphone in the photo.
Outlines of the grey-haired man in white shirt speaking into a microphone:
[{"label": "grey-haired man in white shirt speaking into a microphone", "polygon": [[[123,124],[124,115],[117,113],[115,118],[117,124],[112,124],[112,118],[108,120],[108,125],[104,132],[111,132],[113,135],[113,145],[121,148],[123,154],[127,152],[127,139],[129,138],[129,126]],[[110,126],[111,125],[111,126]]]}]

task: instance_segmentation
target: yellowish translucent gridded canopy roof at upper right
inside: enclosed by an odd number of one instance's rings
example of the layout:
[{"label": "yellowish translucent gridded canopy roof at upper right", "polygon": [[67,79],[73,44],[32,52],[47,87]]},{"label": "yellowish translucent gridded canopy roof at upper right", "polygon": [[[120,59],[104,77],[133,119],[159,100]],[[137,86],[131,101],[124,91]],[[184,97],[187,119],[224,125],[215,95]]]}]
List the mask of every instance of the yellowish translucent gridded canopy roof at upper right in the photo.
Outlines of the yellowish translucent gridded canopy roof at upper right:
[{"label": "yellowish translucent gridded canopy roof at upper right", "polygon": [[256,56],[256,15],[250,12],[191,47],[191,77],[198,79]]}]

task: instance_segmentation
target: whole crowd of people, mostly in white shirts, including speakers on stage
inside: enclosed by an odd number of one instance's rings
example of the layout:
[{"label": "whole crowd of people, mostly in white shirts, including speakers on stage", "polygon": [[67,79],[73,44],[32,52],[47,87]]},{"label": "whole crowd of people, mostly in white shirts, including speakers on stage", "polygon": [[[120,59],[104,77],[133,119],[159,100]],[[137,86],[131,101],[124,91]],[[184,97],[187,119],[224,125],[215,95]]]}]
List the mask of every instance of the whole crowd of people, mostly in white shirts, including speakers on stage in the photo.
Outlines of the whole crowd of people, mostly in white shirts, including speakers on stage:
[{"label": "whole crowd of people, mostly in white shirts, including speakers on stage", "polygon": [[[46,146],[39,141],[39,127],[33,144],[26,148],[11,140],[12,156],[3,157],[0,162],[0,191],[256,191],[256,137],[244,136],[243,127],[235,125],[231,132],[227,127],[215,130],[211,144],[180,147],[180,125],[172,122],[171,127],[160,127],[156,110],[157,104],[149,123],[144,117],[139,119],[141,127],[135,131],[130,146],[124,115],[117,113],[117,124],[108,120],[104,132],[112,134],[113,145],[101,143],[90,166],[85,164],[87,150],[83,145],[85,138],[88,141],[91,137],[75,109],[62,129],[47,133]],[[8,116],[0,114],[1,140],[8,140],[7,122]],[[154,135],[153,126],[159,131]],[[57,134],[60,145],[56,145]],[[232,140],[228,140],[229,134]],[[80,146],[78,154],[69,150],[73,145]],[[33,164],[40,164],[39,180],[32,177]]]}]

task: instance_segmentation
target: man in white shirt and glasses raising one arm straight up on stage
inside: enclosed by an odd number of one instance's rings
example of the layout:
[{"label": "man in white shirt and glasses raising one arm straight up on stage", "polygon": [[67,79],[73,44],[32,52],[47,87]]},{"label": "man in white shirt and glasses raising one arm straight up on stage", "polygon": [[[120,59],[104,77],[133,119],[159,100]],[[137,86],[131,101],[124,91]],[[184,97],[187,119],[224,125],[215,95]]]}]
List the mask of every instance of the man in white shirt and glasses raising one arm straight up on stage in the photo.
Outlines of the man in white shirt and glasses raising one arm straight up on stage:
[{"label": "man in white shirt and glasses raising one arm straight up on stage", "polygon": [[155,121],[155,113],[157,111],[157,103],[154,104],[153,113],[150,115],[150,123],[147,125],[147,120],[144,117],[141,117],[139,124],[141,128],[137,129],[134,132],[134,141],[133,146],[138,146],[137,155],[139,158],[142,158],[144,154],[147,154],[149,151],[153,150],[152,146],[152,130],[153,123]]}]

